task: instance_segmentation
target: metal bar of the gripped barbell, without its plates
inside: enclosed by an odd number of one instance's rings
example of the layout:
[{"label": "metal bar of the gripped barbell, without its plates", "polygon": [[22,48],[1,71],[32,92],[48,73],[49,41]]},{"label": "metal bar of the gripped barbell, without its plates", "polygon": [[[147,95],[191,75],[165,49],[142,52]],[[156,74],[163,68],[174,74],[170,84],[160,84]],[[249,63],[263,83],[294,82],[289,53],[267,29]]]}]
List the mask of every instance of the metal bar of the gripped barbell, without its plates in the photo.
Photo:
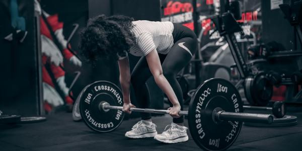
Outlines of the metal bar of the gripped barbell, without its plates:
[{"label": "metal bar of the gripped barbell, without its plates", "polygon": [[[99,105],[99,109],[104,112],[108,112],[109,110],[122,110],[123,107],[111,106],[108,102],[102,101]],[[169,110],[141,109],[141,108],[130,108],[129,110],[133,112],[169,114]],[[180,111],[178,114],[188,115],[188,111]],[[274,120],[274,117],[270,114],[225,112],[222,109],[220,109],[219,111],[213,110],[211,114],[213,114],[212,116],[215,116],[214,117],[215,120],[220,120],[220,121],[242,121],[242,122],[271,124]]]}]

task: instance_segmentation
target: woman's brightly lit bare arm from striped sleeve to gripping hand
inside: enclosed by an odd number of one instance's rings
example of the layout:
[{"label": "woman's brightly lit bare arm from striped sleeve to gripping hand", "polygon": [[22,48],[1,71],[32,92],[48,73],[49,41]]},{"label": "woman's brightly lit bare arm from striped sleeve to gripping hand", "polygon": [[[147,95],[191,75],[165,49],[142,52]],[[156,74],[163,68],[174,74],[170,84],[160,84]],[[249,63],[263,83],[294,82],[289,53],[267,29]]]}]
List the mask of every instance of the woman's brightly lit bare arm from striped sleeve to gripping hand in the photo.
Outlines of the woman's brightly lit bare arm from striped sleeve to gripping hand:
[{"label": "woman's brightly lit bare arm from striped sleeve to gripping hand", "polygon": [[178,99],[177,99],[171,85],[169,84],[168,80],[165,78],[165,76],[163,74],[163,69],[162,69],[161,61],[160,61],[157,50],[154,49],[151,52],[149,52],[146,55],[146,60],[148,62],[149,69],[153,74],[153,77],[154,77],[154,80],[155,80],[156,84],[167,95],[167,97],[169,98],[169,100],[172,103],[173,107],[177,107],[178,111],[174,110],[176,112],[176,114],[175,114],[175,112],[173,112],[173,113],[170,112],[170,114],[173,115],[173,116],[178,117],[179,116],[178,112],[180,110],[180,104],[178,102]]}]

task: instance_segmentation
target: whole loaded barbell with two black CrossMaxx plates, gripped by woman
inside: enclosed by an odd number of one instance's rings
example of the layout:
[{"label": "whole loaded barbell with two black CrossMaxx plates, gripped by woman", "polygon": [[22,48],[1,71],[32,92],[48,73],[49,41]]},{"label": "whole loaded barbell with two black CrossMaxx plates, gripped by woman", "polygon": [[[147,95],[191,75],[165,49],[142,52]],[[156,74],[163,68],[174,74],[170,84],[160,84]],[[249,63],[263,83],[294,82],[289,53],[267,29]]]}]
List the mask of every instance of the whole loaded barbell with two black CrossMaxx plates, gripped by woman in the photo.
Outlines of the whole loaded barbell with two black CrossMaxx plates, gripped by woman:
[{"label": "whole loaded barbell with two black CrossMaxx plates, gripped by woman", "polygon": [[[84,123],[97,132],[110,132],[122,122],[123,96],[113,83],[98,81],[85,87],[80,96],[80,113]],[[168,110],[130,108],[133,112],[168,114]],[[270,124],[270,114],[242,113],[238,90],[224,79],[209,79],[200,85],[190,101],[189,131],[195,143],[204,150],[225,150],[237,139],[242,122]]]}]

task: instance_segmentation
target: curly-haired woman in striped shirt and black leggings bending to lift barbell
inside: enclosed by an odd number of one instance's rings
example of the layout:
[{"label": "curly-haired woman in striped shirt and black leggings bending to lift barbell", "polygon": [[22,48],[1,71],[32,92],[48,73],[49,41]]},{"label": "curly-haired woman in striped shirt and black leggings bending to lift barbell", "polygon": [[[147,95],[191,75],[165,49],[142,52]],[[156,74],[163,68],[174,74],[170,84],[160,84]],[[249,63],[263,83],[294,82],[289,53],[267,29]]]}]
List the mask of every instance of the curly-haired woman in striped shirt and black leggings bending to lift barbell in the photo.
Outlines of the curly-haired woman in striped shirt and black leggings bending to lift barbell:
[{"label": "curly-haired woman in striped shirt and black leggings bending to lift barbell", "polygon": [[[91,19],[81,32],[84,56],[90,61],[100,57],[116,58],[120,71],[120,84],[124,97],[123,111],[131,113],[135,107],[130,101],[130,83],[134,88],[139,108],[148,108],[148,91],[145,82],[151,76],[173,105],[169,113],[173,123],[162,134],[156,131],[149,113],[141,113],[137,122],[125,136],[130,138],[154,137],[166,143],[188,140],[184,117],[181,87],[177,73],[186,66],[197,49],[196,35],[187,27],[172,22],[133,21],[125,16],[98,16]],[[128,53],[141,56],[131,75]]]}]

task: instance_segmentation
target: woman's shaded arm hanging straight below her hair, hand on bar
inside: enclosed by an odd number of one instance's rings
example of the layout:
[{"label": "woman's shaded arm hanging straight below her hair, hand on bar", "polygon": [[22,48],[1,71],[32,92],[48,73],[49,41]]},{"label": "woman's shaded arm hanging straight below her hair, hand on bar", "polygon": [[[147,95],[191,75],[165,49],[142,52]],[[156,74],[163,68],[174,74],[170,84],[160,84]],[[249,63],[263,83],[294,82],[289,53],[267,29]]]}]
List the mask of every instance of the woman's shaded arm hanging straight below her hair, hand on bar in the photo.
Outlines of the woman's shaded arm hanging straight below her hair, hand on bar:
[{"label": "woman's shaded arm hanging straight below her hair, hand on bar", "polygon": [[122,87],[123,98],[124,98],[124,105],[123,111],[127,113],[131,113],[129,110],[130,107],[135,107],[131,104],[130,101],[130,68],[129,68],[129,59],[125,57],[121,60],[118,60],[118,66],[120,71],[120,84]]}]

